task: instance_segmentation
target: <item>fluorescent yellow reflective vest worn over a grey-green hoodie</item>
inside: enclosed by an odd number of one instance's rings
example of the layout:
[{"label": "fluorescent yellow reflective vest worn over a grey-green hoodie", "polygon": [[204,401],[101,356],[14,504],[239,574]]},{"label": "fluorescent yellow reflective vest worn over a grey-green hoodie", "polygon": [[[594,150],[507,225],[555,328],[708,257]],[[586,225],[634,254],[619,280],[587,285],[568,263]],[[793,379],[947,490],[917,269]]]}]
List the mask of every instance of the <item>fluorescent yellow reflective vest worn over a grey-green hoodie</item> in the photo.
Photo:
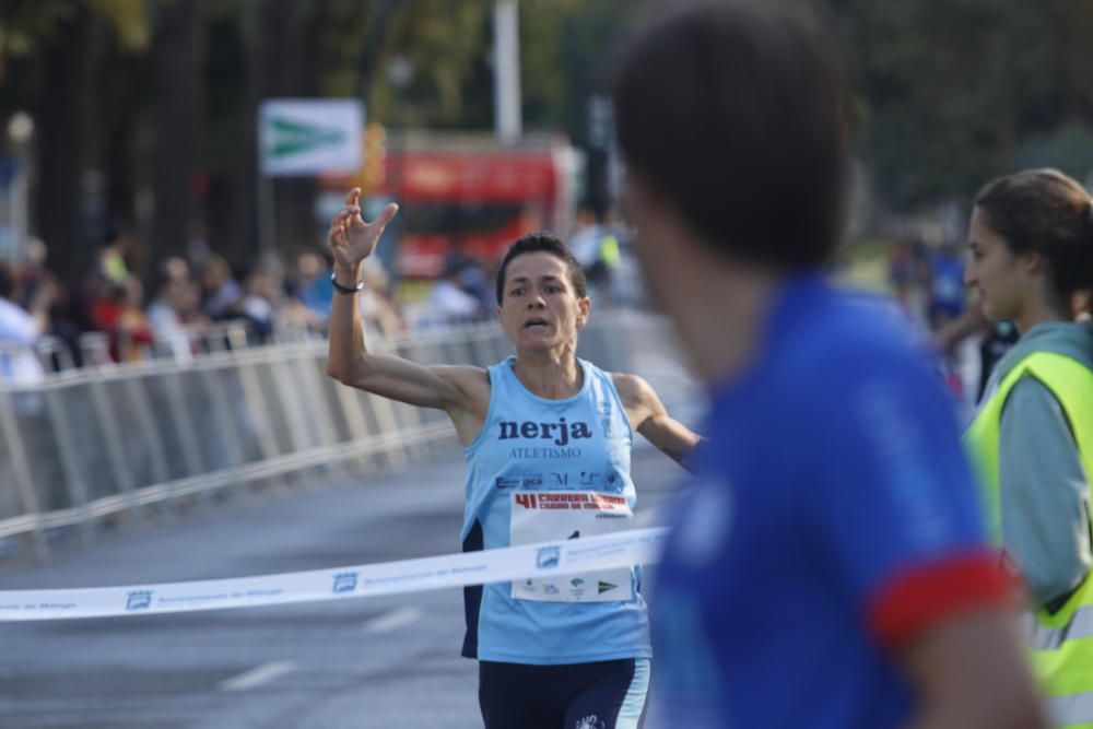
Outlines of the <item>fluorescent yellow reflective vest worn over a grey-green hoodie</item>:
[{"label": "fluorescent yellow reflective vest worn over a grey-green hoodie", "polygon": [[[1070,423],[1085,473],[1093,474],[1093,371],[1061,354],[1030,354],[1007,373],[964,434],[979,477],[989,534],[999,548],[999,425],[1006,398],[1022,377],[1035,377],[1055,395]],[[1051,726],[1093,729],[1093,579],[1086,575],[1058,612],[1038,609],[1025,615],[1024,628]]]}]

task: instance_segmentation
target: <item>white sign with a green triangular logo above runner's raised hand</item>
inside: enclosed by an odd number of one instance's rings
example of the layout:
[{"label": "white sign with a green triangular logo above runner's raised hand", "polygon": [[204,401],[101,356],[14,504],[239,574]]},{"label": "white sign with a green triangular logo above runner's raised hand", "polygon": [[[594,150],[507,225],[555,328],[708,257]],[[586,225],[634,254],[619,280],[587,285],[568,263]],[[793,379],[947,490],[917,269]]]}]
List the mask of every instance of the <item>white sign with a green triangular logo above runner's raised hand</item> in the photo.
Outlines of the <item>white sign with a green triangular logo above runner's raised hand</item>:
[{"label": "white sign with a green triangular logo above runner's raised hand", "polygon": [[364,105],[352,98],[272,98],[258,111],[261,171],[270,176],[361,168]]}]

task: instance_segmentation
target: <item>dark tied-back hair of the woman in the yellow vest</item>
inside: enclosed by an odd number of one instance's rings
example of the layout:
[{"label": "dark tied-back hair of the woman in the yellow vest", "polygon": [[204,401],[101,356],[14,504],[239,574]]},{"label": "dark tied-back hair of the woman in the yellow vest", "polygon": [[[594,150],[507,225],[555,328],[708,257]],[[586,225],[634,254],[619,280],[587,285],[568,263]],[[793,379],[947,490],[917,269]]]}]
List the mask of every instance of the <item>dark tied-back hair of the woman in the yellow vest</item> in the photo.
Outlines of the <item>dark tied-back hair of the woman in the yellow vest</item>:
[{"label": "dark tied-back hair of the woman in the yellow vest", "polygon": [[1093,287],[1093,201],[1079,181],[1025,169],[988,183],[975,207],[1013,254],[1041,255],[1058,304]]}]

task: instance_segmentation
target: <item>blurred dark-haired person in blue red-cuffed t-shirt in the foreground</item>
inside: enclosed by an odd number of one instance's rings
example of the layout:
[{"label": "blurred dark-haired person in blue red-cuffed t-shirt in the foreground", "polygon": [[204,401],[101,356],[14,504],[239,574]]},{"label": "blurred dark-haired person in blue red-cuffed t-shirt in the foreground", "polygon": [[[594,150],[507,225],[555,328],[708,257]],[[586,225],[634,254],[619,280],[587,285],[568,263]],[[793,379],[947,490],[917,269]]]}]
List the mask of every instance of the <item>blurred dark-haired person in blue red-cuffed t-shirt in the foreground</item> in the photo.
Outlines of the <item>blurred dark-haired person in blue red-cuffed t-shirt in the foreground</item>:
[{"label": "blurred dark-haired person in blue red-cuffed t-shirt in the foreground", "polygon": [[778,3],[689,4],[622,56],[626,205],[710,391],[651,600],[658,727],[1041,727],[952,409],[842,233],[838,50]]}]

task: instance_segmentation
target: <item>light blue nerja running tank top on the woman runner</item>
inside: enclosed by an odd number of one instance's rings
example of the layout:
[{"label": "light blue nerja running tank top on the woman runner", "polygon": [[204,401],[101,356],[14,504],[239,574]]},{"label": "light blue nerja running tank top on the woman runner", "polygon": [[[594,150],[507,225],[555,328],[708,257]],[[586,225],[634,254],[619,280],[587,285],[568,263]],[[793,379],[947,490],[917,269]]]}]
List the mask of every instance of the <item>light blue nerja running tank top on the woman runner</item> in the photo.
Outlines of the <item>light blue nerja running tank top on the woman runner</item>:
[{"label": "light blue nerja running tank top on the woman runner", "polygon": [[[578,360],[580,391],[546,400],[517,379],[515,361],[489,368],[485,423],[463,448],[463,551],[633,528],[634,434],[611,375]],[[640,578],[633,567],[467,588],[463,655],[534,665],[648,658]]]}]

